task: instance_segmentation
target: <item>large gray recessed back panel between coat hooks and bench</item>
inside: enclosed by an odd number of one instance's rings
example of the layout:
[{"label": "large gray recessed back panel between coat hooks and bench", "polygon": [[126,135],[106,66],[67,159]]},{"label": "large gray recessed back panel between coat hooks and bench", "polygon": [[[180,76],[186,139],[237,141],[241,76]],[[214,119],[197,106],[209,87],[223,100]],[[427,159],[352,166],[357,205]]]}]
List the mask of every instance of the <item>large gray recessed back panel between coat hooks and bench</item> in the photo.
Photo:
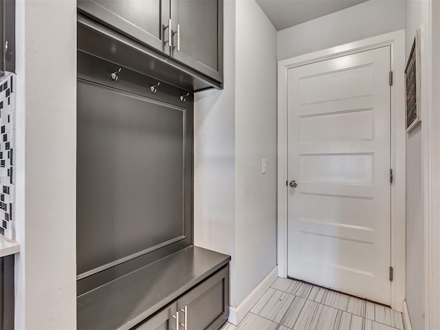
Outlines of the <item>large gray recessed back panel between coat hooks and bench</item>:
[{"label": "large gray recessed back panel between coat hooks and bench", "polygon": [[185,112],[78,84],[78,272],[184,235]]}]

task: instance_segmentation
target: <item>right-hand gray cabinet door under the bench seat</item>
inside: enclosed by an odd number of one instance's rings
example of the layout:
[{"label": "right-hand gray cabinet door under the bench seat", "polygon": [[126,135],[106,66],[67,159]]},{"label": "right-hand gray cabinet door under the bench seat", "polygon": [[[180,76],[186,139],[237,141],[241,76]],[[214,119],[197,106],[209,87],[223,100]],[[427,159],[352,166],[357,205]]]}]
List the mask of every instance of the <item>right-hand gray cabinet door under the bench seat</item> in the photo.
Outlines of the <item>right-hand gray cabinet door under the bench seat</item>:
[{"label": "right-hand gray cabinet door under the bench seat", "polygon": [[229,316],[229,267],[177,300],[179,330],[219,329]]}]

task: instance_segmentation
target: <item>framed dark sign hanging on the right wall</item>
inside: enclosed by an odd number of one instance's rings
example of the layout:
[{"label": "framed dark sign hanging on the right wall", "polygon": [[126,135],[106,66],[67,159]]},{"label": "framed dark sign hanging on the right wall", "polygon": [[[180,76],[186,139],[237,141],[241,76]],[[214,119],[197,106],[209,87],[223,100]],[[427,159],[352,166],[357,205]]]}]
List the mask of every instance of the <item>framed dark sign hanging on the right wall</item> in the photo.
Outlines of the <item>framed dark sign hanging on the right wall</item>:
[{"label": "framed dark sign hanging on the right wall", "polygon": [[406,104],[406,133],[421,122],[421,57],[420,57],[420,30],[416,31],[414,43],[408,63],[405,68],[405,104]]}]

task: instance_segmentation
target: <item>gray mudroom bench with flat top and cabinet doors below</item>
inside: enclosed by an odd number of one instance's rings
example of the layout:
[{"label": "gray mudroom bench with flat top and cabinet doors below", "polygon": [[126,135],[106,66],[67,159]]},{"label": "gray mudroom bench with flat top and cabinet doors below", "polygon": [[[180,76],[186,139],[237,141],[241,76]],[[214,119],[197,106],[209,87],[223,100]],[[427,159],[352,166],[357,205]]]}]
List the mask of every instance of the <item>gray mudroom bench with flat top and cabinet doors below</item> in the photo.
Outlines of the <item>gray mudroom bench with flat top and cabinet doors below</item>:
[{"label": "gray mudroom bench with flat top and cabinet doors below", "polygon": [[78,329],[217,330],[230,256],[191,246],[78,296]]}]

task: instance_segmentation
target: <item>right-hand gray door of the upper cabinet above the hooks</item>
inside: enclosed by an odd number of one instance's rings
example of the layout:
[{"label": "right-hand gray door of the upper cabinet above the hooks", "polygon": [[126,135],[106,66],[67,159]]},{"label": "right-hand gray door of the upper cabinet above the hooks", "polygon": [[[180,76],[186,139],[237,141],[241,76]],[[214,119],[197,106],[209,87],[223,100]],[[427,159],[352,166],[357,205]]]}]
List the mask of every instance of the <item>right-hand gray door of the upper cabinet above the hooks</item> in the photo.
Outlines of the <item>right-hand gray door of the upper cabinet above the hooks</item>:
[{"label": "right-hand gray door of the upper cabinet above the hooks", "polygon": [[171,56],[223,81],[223,0],[171,0]]}]

